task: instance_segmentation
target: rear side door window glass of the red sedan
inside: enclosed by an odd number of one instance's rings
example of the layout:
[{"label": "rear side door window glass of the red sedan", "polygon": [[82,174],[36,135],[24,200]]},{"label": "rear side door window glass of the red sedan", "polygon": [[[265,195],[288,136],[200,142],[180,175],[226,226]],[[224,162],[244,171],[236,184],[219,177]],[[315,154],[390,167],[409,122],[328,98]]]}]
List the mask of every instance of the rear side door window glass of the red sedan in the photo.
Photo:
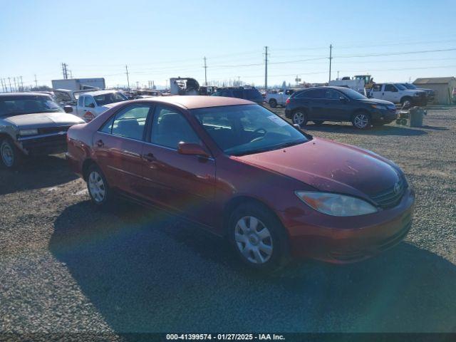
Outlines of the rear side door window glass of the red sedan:
[{"label": "rear side door window glass of the red sedan", "polygon": [[142,140],[149,110],[150,107],[148,105],[129,105],[120,110],[113,121],[113,135]]}]

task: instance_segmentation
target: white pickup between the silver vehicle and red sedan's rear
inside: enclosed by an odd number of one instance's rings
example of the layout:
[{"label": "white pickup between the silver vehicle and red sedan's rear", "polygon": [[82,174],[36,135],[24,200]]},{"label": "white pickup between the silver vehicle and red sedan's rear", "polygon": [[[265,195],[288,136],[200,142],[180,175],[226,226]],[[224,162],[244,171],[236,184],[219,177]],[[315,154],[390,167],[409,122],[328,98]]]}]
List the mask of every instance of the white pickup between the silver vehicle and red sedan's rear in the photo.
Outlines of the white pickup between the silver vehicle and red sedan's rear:
[{"label": "white pickup between the silver vehicle and red sedan's rear", "polygon": [[79,95],[75,108],[64,107],[67,113],[74,113],[86,121],[93,120],[105,110],[110,108],[110,103],[128,100],[127,96],[115,90],[97,90]]}]

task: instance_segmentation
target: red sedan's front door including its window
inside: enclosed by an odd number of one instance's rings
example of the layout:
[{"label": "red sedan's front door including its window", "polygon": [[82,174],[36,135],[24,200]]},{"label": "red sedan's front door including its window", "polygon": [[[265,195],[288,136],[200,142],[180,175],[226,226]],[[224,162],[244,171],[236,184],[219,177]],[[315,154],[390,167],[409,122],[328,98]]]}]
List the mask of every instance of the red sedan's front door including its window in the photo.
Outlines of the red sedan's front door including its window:
[{"label": "red sedan's front door including its window", "polygon": [[177,152],[179,142],[203,145],[180,110],[157,105],[150,137],[142,150],[142,195],[165,209],[210,226],[215,161],[212,157],[181,155]]}]

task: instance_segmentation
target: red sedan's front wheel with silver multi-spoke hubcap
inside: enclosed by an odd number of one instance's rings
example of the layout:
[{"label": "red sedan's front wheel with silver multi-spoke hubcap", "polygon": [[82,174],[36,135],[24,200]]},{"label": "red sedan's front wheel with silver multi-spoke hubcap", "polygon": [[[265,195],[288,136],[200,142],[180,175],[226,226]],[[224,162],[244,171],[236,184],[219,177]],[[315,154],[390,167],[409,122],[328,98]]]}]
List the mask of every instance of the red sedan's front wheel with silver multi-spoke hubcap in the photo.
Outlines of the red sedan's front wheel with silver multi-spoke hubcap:
[{"label": "red sedan's front wheel with silver multi-spoke hubcap", "polygon": [[274,273],[290,260],[285,228],[261,204],[246,202],[234,209],[228,234],[234,253],[251,269]]}]

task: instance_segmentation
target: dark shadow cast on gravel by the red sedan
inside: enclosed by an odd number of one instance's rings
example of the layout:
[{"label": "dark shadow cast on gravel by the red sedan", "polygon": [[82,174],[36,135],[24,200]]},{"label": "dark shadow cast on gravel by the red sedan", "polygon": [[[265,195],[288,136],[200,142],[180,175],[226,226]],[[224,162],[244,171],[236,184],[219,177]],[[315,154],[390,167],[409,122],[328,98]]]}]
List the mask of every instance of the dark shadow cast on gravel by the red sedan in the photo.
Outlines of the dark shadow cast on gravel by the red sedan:
[{"label": "dark shadow cast on gravel by the red sedan", "polygon": [[335,266],[252,273],[227,243],[162,212],[90,202],[56,219],[51,253],[117,333],[456,331],[456,266],[403,242]]}]

